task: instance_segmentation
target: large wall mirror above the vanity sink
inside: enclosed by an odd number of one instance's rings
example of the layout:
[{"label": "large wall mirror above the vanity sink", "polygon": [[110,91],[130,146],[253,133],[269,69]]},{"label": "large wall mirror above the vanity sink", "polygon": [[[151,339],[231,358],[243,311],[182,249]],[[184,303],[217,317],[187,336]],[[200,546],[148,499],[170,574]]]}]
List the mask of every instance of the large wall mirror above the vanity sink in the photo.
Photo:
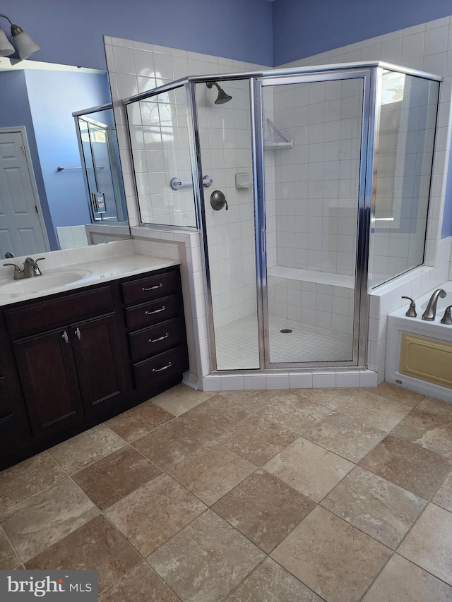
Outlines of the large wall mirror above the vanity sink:
[{"label": "large wall mirror above the vanity sink", "polygon": [[0,82],[0,257],[129,238],[107,72],[1,58]]}]

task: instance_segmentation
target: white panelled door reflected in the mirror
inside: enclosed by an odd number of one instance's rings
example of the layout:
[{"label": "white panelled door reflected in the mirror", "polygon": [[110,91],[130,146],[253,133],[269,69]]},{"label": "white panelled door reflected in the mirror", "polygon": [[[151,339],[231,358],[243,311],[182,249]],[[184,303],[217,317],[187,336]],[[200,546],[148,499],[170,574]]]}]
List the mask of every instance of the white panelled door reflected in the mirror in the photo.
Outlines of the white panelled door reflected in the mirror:
[{"label": "white panelled door reflected in the mirror", "polygon": [[32,255],[49,250],[40,203],[28,160],[28,145],[18,131],[0,131],[0,253]]}]

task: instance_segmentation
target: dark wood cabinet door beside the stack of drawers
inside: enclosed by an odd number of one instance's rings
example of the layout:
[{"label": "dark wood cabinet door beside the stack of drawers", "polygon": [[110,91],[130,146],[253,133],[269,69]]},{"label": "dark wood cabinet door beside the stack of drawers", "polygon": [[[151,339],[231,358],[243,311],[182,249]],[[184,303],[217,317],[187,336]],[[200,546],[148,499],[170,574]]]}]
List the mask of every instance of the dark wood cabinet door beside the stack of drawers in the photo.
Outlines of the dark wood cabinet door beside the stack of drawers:
[{"label": "dark wood cabinet door beside the stack of drawers", "polygon": [[114,313],[69,326],[85,414],[124,397],[124,361]]}]

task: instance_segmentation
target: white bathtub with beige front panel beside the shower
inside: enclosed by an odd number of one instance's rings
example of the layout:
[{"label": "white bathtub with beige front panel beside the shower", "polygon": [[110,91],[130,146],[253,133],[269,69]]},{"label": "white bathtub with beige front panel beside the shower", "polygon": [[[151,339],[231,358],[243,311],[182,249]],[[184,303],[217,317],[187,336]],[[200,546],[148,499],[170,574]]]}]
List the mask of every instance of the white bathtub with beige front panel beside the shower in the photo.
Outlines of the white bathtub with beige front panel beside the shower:
[{"label": "white bathtub with beige front panel beside the shower", "polygon": [[[417,318],[405,316],[409,301],[388,315],[385,380],[452,403],[452,325],[440,322],[446,307],[452,305],[452,282],[444,282],[436,288],[444,289],[446,297],[438,299],[433,322],[422,320],[433,290],[415,300]],[[414,350],[415,356],[410,356],[408,349]],[[432,373],[429,365],[434,366]],[[441,378],[435,371],[441,372]],[[445,373],[451,383],[441,385],[439,383],[444,382]],[[418,378],[413,374],[419,375]]]}]

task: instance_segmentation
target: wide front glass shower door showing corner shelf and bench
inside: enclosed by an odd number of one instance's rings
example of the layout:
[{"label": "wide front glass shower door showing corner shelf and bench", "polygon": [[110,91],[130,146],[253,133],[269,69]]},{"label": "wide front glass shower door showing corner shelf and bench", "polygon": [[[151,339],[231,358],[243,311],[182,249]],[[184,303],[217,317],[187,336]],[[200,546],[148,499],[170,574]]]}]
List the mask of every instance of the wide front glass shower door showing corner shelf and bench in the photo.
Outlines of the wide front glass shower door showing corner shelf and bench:
[{"label": "wide front glass shower door showing corner shelf and bench", "polygon": [[258,82],[266,367],[357,363],[364,78],[321,77]]}]

